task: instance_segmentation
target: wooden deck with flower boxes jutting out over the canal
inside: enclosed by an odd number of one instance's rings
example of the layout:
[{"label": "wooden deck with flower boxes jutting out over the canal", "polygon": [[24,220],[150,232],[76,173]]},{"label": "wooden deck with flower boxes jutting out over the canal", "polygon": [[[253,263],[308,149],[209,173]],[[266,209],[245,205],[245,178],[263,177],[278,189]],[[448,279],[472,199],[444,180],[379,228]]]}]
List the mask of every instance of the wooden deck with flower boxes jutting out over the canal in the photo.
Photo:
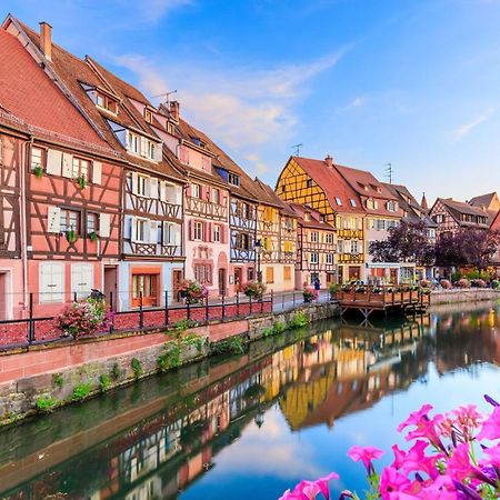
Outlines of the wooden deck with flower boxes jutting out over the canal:
[{"label": "wooden deck with flower boxes jutting out over the canal", "polygon": [[364,291],[356,291],[356,288],[350,291],[340,290],[333,298],[339,301],[341,316],[348,310],[357,310],[366,320],[373,311],[423,312],[430,306],[430,294],[422,293],[421,290],[397,291],[390,287],[366,286]]}]

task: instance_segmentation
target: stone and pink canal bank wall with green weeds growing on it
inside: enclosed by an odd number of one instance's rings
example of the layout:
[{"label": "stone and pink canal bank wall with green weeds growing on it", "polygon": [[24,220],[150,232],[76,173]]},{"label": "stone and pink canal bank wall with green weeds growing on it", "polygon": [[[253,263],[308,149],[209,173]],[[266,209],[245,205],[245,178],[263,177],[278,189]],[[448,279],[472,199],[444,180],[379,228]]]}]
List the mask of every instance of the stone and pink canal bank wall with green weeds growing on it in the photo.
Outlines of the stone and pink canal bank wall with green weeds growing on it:
[{"label": "stone and pink canal bank wall with green weeds growing on it", "polygon": [[169,332],[131,333],[33,346],[0,357],[0,424],[17,422],[177,369],[212,354],[242,353],[246,344],[339,314],[336,303],[304,304]]}]

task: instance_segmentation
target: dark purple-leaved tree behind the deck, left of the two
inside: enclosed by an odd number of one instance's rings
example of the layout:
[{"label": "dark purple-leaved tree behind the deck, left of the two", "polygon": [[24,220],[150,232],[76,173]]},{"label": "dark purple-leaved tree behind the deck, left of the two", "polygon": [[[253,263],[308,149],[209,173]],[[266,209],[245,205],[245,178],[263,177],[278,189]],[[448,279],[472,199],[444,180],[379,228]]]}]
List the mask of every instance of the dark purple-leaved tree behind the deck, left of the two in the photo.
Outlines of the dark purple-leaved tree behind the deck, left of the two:
[{"label": "dark purple-leaved tree behind the deck, left of the two", "polygon": [[433,246],[429,243],[428,228],[423,221],[406,222],[389,229],[386,240],[372,241],[369,252],[374,262],[414,262],[432,266]]}]

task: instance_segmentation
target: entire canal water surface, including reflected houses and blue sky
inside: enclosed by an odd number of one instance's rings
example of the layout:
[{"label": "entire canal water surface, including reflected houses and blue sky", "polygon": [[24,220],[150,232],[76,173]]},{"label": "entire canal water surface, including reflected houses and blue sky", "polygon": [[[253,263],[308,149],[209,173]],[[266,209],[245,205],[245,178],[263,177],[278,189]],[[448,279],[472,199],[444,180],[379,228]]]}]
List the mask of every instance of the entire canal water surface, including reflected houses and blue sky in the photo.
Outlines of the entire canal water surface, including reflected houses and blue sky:
[{"label": "entire canal water surface, including reflected houses and blue sky", "polygon": [[389,450],[423,402],[500,398],[499,313],[317,323],[2,430],[0,498],[277,499],[331,470],[361,491],[350,446]]}]

